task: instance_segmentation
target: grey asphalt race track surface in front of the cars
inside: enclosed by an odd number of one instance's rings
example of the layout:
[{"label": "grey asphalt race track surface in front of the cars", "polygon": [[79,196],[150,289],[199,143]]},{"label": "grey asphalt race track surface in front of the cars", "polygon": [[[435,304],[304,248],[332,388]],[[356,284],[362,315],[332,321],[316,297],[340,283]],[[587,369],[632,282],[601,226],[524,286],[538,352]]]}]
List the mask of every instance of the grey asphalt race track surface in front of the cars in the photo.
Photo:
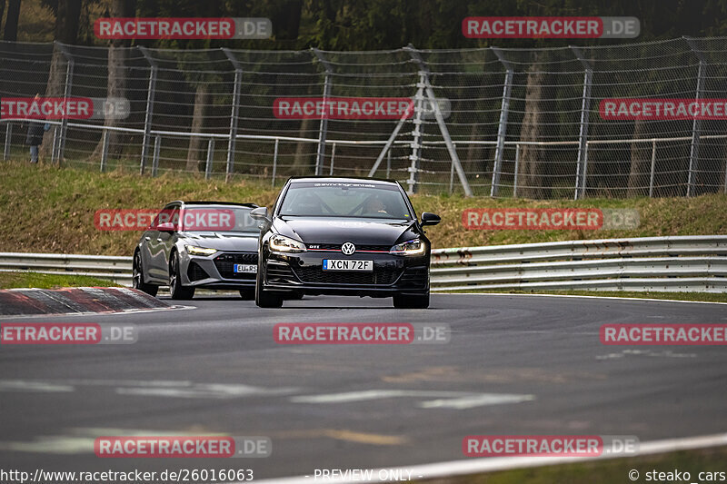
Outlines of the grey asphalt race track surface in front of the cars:
[{"label": "grey asphalt race track surface in front of the cars", "polygon": [[[314,469],[463,459],[472,434],[635,435],[727,430],[719,346],[603,346],[604,323],[725,323],[727,306],[435,294],[429,310],[307,297],[7,321],[131,322],[129,345],[0,348],[5,469]],[[436,345],[279,345],[276,322],[447,322]],[[267,436],[266,459],[100,459],[97,436]]]}]

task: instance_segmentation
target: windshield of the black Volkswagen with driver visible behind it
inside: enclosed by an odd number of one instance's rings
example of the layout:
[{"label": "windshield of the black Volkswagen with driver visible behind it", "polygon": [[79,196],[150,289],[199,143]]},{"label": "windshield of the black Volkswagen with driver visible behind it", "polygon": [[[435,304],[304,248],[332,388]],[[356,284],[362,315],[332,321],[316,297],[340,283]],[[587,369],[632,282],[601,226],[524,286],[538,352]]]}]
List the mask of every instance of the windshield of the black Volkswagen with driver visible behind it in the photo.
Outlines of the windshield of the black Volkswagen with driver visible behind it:
[{"label": "windshield of the black Volkswagen with driver visible behind it", "polygon": [[292,183],[279,214],[412,220],[399,188],[376,183]]}]

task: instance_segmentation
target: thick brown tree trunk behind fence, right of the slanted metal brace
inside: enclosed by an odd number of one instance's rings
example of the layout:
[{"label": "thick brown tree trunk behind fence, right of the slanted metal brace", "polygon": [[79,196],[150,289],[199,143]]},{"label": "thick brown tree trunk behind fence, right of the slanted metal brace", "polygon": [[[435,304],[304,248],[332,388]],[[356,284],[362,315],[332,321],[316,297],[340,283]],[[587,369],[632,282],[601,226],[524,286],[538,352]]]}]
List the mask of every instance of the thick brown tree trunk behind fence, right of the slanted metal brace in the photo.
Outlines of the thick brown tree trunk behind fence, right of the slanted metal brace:
[{"label": "thick brown tree trunk behind fence, right of the slanted metal brace", "polygon": [[[520,141],[542,141],[545,125],[545,114],[542,109],[543,82],[545,74],[539,72],[537,64],[529,69],[527,86],[525,87],[525,114],[520,128]],[[518,169],[518,194],[525,198],[542,199],[546,191],[545,166],[543,149],[533,144],[523,144],[520,148],[520,164]]]}]

